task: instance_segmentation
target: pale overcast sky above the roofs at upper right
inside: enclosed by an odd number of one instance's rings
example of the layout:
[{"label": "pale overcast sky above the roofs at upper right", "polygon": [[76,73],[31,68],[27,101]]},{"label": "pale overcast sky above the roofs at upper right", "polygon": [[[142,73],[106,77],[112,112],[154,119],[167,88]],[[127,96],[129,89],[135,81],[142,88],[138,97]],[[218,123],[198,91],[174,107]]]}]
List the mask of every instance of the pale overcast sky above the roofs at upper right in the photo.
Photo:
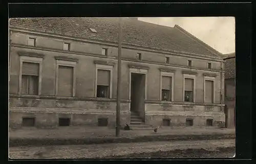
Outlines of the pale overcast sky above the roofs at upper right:
[{"label": "pale overcast sky above the roofs at upper right", "polygon": [[235,51],[234,17],[140,17],[139,20],[171,27],[177,24],[223,54]]}]

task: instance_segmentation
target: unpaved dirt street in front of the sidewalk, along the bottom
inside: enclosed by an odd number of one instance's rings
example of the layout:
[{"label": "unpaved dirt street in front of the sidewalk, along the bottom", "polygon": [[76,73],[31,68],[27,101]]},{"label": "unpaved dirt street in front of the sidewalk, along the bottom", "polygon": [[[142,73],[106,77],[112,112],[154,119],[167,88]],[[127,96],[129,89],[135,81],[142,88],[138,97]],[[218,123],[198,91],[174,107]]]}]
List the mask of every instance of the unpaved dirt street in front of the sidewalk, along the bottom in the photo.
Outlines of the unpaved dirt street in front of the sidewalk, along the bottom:
[{"label": "unpaved dirt street in front of the sidewalk, along the bottom", "polygon": [[[232,157],[235,140],[10,147],[10,158]],[[221,147],[221,149],[219,149]],[[195,150],[193,150],[195,149]]]}]

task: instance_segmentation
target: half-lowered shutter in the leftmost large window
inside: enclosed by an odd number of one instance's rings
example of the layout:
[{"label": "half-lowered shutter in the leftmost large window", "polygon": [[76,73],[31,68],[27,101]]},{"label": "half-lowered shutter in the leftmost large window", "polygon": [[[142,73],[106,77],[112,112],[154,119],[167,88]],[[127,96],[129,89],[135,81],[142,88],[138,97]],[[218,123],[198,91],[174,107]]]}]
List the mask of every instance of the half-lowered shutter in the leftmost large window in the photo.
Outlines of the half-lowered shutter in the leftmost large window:
[{"label": "half-lowered shutter in the leftmost large window", "polygon": [[22,74],[38,76],[39,75],[39,64],[23,62]]}]

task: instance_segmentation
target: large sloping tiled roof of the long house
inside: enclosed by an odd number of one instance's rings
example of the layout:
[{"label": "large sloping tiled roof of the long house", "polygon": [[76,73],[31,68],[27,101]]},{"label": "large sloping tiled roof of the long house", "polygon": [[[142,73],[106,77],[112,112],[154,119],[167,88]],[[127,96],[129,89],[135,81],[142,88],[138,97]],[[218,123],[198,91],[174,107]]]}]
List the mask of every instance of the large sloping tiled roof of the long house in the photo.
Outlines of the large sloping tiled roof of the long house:
[{"label": "large sloping tiled roof of the long house", "polygon": [[[11,28],[118,43],[118,18],[12,18]],[[97,32],[92,32],[95,29]],[[175,25],[123,18],[122,44],[219,58],[220,54]]]}]

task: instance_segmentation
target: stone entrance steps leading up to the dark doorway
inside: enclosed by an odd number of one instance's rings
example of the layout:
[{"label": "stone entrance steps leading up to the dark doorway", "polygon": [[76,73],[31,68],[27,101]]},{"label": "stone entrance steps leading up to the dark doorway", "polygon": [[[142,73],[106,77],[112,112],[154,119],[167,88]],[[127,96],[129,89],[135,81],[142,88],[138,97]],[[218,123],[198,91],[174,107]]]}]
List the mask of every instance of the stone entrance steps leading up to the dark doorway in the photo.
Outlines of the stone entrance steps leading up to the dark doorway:
[{"label": "stone entrance steps leading up to the dark doorway", "polygon": [[131,129],[152,129],[151,125],[145,125],[138,113],[131,111]]}]

